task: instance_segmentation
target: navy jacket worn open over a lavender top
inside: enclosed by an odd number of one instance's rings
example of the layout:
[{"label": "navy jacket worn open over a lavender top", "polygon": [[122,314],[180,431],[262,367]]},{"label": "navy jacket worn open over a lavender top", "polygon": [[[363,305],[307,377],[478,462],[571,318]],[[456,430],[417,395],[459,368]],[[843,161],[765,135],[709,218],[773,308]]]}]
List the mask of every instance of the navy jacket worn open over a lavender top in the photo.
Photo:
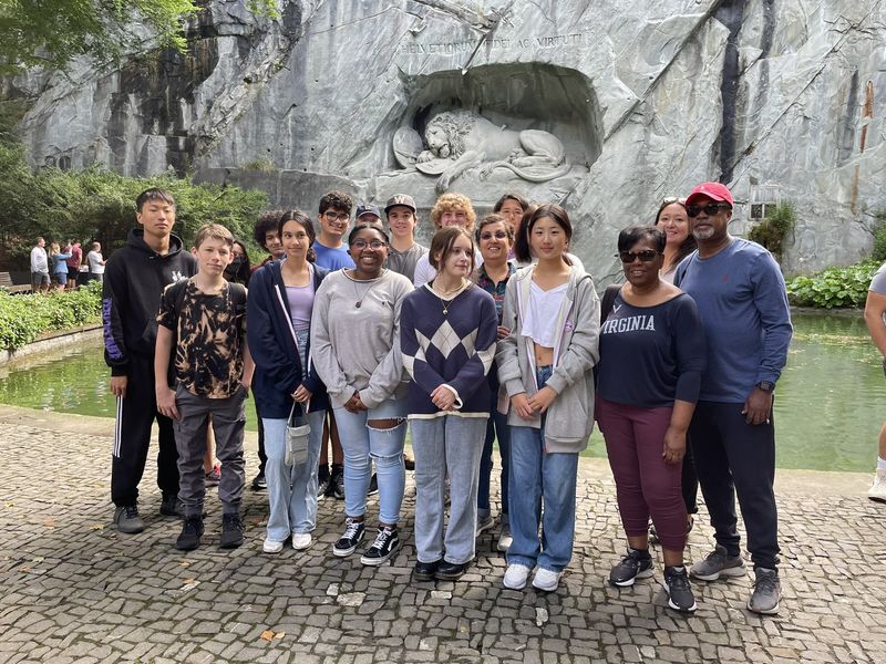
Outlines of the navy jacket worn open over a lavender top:
[{"label": "navy jacket worn open over a lavender top", "polygon": [[[313,290],[329,270],[313,266]],[[292,393],[301,385],[303,374],[296,342],[290,331],[289,300],[286,297],[280,262],[269,262],[249,280],[249,297],[246,300],[246,328],[249,352],[256,363],[253,394],[262,417],[285,419],[292,408]],[[305,387],[311,391],[309,411],[329,408],[326,386],[317,375],[310,361],[310,340],[307,357],[309,364]],[[297,408],[298,412],[298,408]]]}]

